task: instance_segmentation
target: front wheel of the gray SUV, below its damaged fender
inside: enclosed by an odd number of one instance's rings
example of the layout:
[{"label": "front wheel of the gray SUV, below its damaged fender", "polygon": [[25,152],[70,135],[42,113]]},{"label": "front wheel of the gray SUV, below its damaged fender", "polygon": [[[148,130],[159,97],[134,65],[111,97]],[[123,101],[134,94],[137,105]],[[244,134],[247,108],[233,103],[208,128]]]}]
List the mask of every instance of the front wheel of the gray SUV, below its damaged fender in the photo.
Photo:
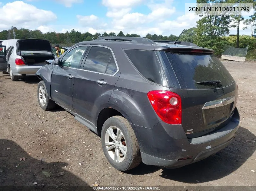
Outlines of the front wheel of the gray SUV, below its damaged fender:
[{"label": "front wheel of the gray SUV, below its damaged fender", "polygon": [[56,107],[56,103],[48,97],[44,81],[40,81],[38,84],[37,97],[38,103],[43,110],[52,110]]}]

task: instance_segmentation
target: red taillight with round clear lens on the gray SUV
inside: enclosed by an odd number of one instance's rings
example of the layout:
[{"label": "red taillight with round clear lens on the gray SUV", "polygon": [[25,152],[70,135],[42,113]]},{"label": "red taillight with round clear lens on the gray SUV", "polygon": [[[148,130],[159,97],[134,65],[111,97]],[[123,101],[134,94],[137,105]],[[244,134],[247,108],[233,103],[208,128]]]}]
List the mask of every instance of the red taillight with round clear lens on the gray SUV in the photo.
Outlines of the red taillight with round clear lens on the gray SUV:
[{"label": "red taillight with round clear lens on the gray SUV", "polygon": [[181,124],[181,97],[178,94],[155,90],[148,92],[148,99],[157,115],[165,123]]}]

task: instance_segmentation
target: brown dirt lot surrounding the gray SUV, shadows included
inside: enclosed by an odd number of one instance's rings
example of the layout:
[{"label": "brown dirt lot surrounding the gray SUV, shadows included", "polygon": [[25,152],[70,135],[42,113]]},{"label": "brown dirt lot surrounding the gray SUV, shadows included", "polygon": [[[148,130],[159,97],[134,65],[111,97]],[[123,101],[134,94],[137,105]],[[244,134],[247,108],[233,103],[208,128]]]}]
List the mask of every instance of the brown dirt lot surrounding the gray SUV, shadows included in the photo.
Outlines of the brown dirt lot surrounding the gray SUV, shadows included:
[{"label": "brown dirt lot surrounding the gray SUV, shadows included", "polygon": [[235,140],[179,169],[140,164],[126,173],[108,164],[100,137],[71,114],[39,107],[37,78],[13,82],[0,74],[0,185],[256,185],[256,62],[223,63],[239,89]]}]

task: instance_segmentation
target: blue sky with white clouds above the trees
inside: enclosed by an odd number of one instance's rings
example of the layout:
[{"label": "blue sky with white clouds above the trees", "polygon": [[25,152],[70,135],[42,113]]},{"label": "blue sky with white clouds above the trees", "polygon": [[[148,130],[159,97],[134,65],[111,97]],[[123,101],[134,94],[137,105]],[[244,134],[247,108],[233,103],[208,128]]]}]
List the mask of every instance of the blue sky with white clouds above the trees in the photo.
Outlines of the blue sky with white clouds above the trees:
[{"label": "blue sky with white clouds above the trees", "polygon": [[[15,26],[44,33],[75,29],[90,33],[122,30],[141,36],[178,35],[183,29],[195,27],[199,19],[185,14],[185,3],[195,0],[0,0],[0,30]],[[250,31],[249,27],[240,33]],[[236,33],[236,29],[231,33]]]}]

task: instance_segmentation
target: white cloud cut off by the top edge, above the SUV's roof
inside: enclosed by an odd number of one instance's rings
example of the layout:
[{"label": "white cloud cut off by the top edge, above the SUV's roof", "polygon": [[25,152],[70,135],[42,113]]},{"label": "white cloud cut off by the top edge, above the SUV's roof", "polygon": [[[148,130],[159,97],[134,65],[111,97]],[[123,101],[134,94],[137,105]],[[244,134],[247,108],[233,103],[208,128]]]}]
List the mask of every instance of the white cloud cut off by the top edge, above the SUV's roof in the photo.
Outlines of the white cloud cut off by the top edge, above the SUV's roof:
[{"label": "white cloud cut off by the top edge, above the SUV's roof", "polygon": [[102,4],[109,8],[125,8],[139,5],[144,0],[102,0]]}]

